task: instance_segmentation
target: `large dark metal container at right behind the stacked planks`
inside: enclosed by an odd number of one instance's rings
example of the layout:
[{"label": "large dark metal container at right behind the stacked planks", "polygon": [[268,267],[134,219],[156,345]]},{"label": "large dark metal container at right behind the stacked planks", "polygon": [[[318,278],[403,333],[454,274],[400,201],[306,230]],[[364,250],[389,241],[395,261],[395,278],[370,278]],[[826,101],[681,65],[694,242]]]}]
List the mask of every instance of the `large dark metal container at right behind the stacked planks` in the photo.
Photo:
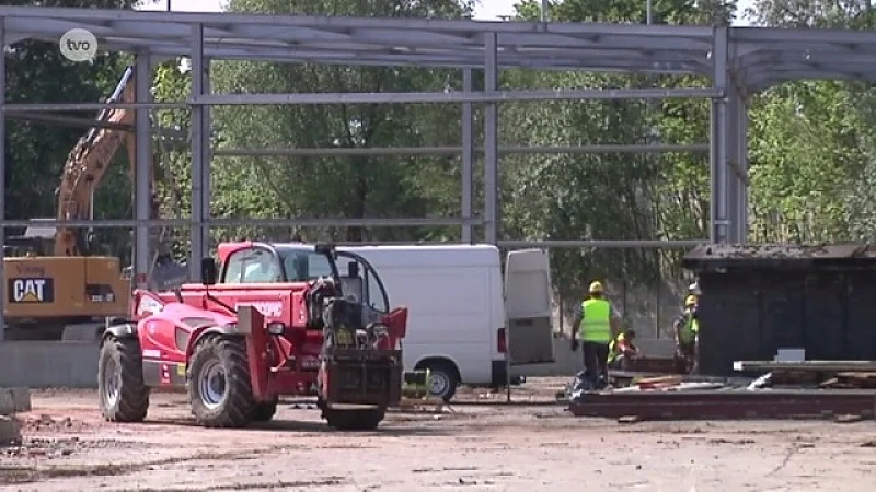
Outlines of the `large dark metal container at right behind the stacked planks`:
[{"label": "large dark metal container at right behind the stacked planks", "polygon": [[701,370],[772,360],[783,348],[809,360],[876,360],[876,247],[704,245],[684,268],[703,295]]}]

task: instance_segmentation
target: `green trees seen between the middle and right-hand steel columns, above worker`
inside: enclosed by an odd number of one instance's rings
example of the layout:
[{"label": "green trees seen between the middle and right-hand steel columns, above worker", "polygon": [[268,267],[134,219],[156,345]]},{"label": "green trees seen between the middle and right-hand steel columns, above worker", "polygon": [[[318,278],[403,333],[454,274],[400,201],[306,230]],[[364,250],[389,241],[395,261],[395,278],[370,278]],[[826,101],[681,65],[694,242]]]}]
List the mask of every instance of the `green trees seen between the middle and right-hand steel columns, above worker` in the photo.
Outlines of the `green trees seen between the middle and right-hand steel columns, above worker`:
[{"label": "green trees seen between the middle and right-hand steel columns, above worker", "polygon": [[[641,1],[566,0],[551,19],[568,22],[645,23]],[[518,5],[518,15],[540,15],[534,1]],[[655,1],[656,24],[727,24],[735,2]],[[509,71],[509,86],[643,87],[703,86],[695,77],[643,77],[602,73],[529,73]],[[704,101],[585,101],[503,106],[503,138],[523,145],[702,143],[707,141],[708,105]],[[708,166],[705,155],[565,154],[503,160],[507,235],[554,239],[701,238],[706,234]],[[593,278],[615,285],[658,285],[677,278],[683,251],[644,249],[556,250],[554,279],[561,297],[575,298]]]}]

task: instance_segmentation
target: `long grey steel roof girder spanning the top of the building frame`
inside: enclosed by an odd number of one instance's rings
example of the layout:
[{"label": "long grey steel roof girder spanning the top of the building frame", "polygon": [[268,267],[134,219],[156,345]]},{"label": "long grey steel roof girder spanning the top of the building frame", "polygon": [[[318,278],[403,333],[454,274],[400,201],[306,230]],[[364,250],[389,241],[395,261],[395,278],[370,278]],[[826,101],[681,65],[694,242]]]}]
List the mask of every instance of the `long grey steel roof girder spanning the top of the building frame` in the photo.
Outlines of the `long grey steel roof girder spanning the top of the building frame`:
[{"label": "long grey steel roof girder spanning the top of the building frame", "polygon": [[[49,7],[0,7],[7,43],[57,43],[72,27],[91,31],[107,49],[153,56],[189,56],[192,35],[203,32],[204,56],[351,66],[483,68],[485,39],[495,35],[502,68],[607,70],[641,73],[712,74],[712,27],[572,22],[476,22],[472,20],[378,19],[242,13],[143,12]],[[821,72],[821,63],[876,52],[876,33],[840,30],[729,27],[727,66],[744,73],[745,87],[779,80],[776,67],[749,67],[741,56],[769,50],[794,59],[806,50],[814,70],[793,77],[830,79],[869,71]],[[723,49],[723,48],[722,48]],[[838,75],[839,74],[839,75]],[[749,83],[749,78],[760,82]]]}]

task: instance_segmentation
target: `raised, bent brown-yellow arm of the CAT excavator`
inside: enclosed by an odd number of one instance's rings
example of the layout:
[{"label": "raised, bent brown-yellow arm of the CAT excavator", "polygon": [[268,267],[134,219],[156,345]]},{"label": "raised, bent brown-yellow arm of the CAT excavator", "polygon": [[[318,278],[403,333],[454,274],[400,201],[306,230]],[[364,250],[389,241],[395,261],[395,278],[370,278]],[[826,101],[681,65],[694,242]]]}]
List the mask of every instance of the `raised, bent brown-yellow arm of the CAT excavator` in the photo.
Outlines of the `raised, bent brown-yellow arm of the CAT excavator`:
[{"label": "raised, bent brown-yellow arm of the CAT excavator", "polygon": [[[134,67],[128,67],[106,102],[135,102],[135,77]],[[136,112],[132,109],[103,109],[97,116],[97,121],[112,124],[114,128],[95,127],[79,139],[64,165],[61,183],[58,187],[57,219],[59,221],[88,220],[92,218],[94,192],[100,187],[106,169],[112,164],[113,157],[123,142],[127,147],[131,177],[134,176],[134,166],[137,162],[135,134],[118,127],[132,128],[135,115]],[[158,200],[154,194],[154,169],[150,179],[150,188],[152,216],[157,216]],[[55,235],[55,256],[87,256],[89,254],[89,241],[87,241],[81,227],[58,227]]]}]

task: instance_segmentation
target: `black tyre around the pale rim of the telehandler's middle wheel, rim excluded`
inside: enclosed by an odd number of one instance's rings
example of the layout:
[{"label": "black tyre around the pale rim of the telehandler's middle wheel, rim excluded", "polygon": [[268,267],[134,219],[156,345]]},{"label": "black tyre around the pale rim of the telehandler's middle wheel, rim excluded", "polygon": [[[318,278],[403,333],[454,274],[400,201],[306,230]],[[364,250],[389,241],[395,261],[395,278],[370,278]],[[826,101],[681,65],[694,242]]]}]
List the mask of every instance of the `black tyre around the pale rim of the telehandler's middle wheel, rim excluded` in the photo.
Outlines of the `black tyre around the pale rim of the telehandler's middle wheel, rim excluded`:
[{"label": "black tyre around the pale rim of the telehandler's middle wheel, rim excluded", "polygon": [[217,410],[208,410],[200,403],[199,387],[192,380],[197,380],[198,375],[193,374],[188,384],[188,399],[192,414],[199,425],[205,427],[239,429],[246,426],[253,420],[256,402],[253,398],[252,383],[250,379],[250,365],[246,358],[246,344],[240,337],[209,337],[198,343],[192,356],[194,371],[204,358],[226,354],[226,391],[228,398]]}]

